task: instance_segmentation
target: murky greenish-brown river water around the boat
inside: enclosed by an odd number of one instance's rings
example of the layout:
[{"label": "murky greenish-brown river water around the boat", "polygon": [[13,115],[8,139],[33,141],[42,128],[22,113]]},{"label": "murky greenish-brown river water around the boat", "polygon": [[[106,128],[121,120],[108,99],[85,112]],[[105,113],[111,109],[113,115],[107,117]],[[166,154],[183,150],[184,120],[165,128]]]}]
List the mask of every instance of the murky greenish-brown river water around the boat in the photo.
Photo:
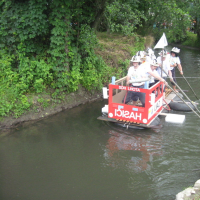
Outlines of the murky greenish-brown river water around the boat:
[{"label": "murky greenish-brown river water around the boat", "polygon": [[[187,80],[200,96],[200,51],[181,48],[180,58],[185,77],[197,77]],[[189,90],[184,79],[178,84]],[[183,124],[162,118],[161,129],[127,130],[97,120],[104,104],[81,105],[1,137],[0,199],[173,200],[200,178],[194,113],[181,113]]]}]

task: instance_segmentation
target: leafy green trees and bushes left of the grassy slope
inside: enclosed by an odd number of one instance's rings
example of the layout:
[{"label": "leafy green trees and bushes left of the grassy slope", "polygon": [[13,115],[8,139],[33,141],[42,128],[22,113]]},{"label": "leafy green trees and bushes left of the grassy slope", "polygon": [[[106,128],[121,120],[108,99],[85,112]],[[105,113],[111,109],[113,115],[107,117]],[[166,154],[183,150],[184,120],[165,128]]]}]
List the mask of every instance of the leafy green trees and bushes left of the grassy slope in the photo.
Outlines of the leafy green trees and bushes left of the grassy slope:
[{"label": "leafy green trees and bushes left of the grassy slope", "polygon": [[108,82],[112,69],[94,53],[92,28],[104,9],[100,0],[0,1],[0,95],[10,93],[0,103],[0,116],[22,114],[21,101],[30,107],[30,93],[52,88],[58,97],[80,84],[91,90]]}]

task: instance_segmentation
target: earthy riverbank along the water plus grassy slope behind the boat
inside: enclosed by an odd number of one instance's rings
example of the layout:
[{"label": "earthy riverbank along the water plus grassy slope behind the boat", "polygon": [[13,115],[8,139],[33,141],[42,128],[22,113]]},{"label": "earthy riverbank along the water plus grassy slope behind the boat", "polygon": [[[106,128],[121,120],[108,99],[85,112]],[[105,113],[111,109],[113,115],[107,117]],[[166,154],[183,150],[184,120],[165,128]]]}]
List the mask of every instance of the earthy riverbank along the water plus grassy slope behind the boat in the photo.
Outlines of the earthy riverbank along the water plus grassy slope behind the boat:
[{"label": "earthy riverbank along the water plus grassy slope behind the boat", "polygon": [[[121,74],[127,72],[129,60],[137,51],[151,47],[154,44],[154,38],[151,36],[135,37],[122,36],[120,34],[97,33],[99,45],[95,49],[97,55],[103,58],[104,62],[113,68],[116,73],[121,70]],[[115,74],[108,74],[110,76]],[[31,107],[19,117],[15,117],[14,111],[9,116],[1,117],[0,130],[5,130],[27,122],[41,120],[50,115],[73,108],[86,102],[99,99],[102,91],[88,91],[81,85],[76,92],[62,94],[59,99],[52,98],[52,91],[45,91],[39,94],[27,94],[26,98]]]}]

